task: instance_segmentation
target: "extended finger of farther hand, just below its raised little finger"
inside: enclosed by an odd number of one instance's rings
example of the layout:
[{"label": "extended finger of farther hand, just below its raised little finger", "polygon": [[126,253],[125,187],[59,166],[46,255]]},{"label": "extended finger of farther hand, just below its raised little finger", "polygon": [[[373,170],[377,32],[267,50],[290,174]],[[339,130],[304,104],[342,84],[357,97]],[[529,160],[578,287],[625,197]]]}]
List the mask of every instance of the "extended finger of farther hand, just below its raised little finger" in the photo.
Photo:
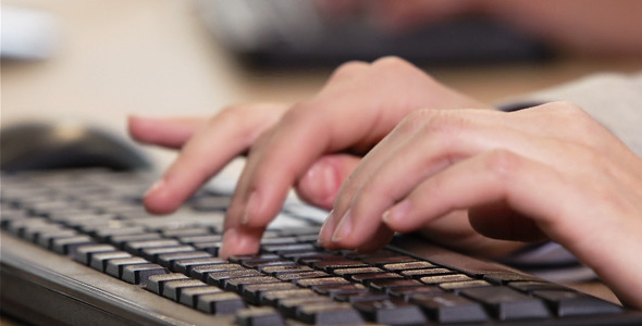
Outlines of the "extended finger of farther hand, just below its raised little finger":
[{"label": "extended finger of farther hand, just below its raised little finger", "polygon": [[287,106],[261,104],[236,106],[211,118],[183,147],[163,177],[145,196],[153,213],[176,210],[194,191],[277,121]]}]

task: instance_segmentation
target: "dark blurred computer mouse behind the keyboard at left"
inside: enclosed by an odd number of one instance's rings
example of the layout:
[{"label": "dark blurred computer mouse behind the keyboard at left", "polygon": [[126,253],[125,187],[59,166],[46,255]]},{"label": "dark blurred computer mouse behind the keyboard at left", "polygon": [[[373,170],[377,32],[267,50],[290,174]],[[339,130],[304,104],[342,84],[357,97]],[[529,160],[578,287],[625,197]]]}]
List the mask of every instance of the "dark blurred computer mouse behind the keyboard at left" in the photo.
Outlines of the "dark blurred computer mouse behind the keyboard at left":
[{"label": "dark blurred computer mouse behind the keyboard at left", "polygon": [[75,123],[20,123],[0,130],[3,172],[107,167],[149,168],[149,160],[124,138]]}]

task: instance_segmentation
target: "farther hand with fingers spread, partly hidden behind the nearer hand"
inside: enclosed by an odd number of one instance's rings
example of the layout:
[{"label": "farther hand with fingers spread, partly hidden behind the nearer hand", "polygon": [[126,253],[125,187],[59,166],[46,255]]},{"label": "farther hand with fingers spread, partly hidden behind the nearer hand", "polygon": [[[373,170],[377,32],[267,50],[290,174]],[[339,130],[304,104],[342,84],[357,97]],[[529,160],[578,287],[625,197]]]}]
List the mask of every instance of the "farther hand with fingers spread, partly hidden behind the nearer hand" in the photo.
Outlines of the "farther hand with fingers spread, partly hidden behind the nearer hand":
[{"label": "farther hand with fingers spread, partly hidden behind the nearer hand", "polygon": [[133,118],[131,134],[140,141],[185,143],[178,159],[148,191],[145,204],[157,213],[175,210],[234,156],[249,151],[227,211],[221,255],[256,252],[262,231],[293,185],[304,199],[330,208],[342,180],[358,162],[346,153],[366,153],[420,108],[486,105],[405,61],[386,58],[343,65],[319,93],[292,108],[231,106],[207,124],[190,121],[190,126],[200,128],[195,134],[186,127],[168,133],[164,129],[172,124],[166,121]]}]

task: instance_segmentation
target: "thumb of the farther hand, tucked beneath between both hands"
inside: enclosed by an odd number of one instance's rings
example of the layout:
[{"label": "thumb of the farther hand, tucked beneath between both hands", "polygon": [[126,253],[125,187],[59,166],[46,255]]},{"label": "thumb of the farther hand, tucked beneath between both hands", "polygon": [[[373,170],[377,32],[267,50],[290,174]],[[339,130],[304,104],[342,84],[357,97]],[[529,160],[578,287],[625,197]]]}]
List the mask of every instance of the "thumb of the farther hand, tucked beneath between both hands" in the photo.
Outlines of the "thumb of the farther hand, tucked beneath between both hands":
[{"label": "thumb of the farther hand, tucked beneath between both hands", "polygon": [[297,180],[295,190],[306,202],[330,210],[338,188],[360,161],[349,154],[324,155]]}]

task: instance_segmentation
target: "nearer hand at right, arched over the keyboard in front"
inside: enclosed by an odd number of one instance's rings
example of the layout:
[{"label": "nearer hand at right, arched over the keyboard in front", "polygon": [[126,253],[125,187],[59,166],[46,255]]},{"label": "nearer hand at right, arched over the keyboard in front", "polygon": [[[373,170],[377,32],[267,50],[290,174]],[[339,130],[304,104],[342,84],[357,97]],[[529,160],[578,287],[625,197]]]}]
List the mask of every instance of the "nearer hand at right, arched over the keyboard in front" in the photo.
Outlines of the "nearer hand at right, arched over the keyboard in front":
[{"label": "nearer hand at right, arched over the keyboard in front", "polygon": [[386,228],[457,246],[434,224],[467,210],[480,235],[553,239],[642,308],[642,159],[571,104],[415,111],[336,198],[320,235],[330,249],[383,246]]}]

